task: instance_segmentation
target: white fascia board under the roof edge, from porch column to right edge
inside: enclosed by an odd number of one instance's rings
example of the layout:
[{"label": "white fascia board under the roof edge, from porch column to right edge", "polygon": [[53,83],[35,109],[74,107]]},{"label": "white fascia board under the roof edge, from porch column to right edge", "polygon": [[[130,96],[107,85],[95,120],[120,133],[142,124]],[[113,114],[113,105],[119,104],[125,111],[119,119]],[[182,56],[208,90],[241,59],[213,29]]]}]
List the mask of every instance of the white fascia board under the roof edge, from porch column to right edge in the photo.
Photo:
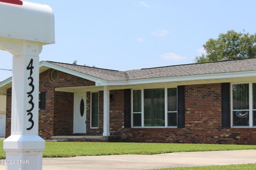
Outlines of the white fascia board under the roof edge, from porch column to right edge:
[{"label": "white fascia board under the roof edge, from porch column to right edge", "polygon": [[256,71],[201,74],[201,75],[185,75],[185,76],[177,76],[177,77],[139,79],[139,80],[128,80],[128,81],[110,81],[110,82],[108,82],[107,85],[108,86],[114,86],[114,85],[115,86],[124,86],[124,85],[134,85],[134,84],[227,79],[227,78],[241,78],[241,77],[253,77],[253,76],[256,76]]}]

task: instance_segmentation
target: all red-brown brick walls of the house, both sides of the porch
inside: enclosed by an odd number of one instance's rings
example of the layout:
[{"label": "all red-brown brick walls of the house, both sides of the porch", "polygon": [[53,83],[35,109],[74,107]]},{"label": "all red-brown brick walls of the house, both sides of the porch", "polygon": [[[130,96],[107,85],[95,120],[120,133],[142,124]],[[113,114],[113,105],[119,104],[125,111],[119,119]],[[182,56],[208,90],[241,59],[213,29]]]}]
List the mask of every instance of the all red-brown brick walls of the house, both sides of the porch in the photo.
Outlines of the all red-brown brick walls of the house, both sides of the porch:
[{"label": "all red-brown brick walls of the house, both sides of the porch", "polygon": [[[40,74],[40,91],[46,91],[46,109],[39,111],[39,134],[73,133],[73,94],[58,92],[57,87],[93,86],[94,82],[59,73],[58,82],[50,80],[51,70]],[[185,86],[185,128],[123,128],[124,90],[110,90],[110,141],[232,143],[256,145],[256,129],[221,128],[221,83]],[[90,128],[90,97],[86,94],[87,135],[103,133],[103,91],[99,91],[99,128]],[[7,90],[6,136],[10,135],[11,89]],[[118,138],[122,137],[122,138]]]}]

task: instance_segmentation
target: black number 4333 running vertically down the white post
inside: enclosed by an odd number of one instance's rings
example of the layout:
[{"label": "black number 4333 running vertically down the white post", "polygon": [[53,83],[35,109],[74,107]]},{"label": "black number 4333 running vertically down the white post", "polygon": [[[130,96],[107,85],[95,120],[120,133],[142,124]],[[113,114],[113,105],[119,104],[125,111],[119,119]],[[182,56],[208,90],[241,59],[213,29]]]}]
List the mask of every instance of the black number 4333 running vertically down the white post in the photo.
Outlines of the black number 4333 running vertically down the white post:
[{"label": "black number 4333 running vertically down the white post", "polygon": [[28,103],[31,105],[31,108],[27,110],[27,113],[28,113],[27,115],[30,116],[30,118],[29,118],[28,121],[31,123],[31,126],[30,126],[29,128],[27,128],[28,131],[31,130],[31,129],[33,129],[33,127],[34,127],[34,121],[33,121],[33,113],[32,113],[32,111],[33,111],[33,109],[34,109],[34,103],[33,103],[33,98],[34,98],[34,97],[33,97],[33,92],[34,92],[34,90],[35,90],[35,86],[34,86],[34,84],[33,84],[34,79],[33,79],[33,77],[31,77],[32,74],[33,74],[33,69],[34,69],[34,66],[33,66],[33,59],[31,59],[30,62],[29,62],[29,64],[28,64],[28,66],[27,66],[27,70],[30,71],[29,77],[28,77],[28,80],[30,80],[30,83],[29,83],[28,85],[32,88],[31,91],[28,91],[28,92],[27,92],[27,95],[28,95],[28,98],[29,98]]}]

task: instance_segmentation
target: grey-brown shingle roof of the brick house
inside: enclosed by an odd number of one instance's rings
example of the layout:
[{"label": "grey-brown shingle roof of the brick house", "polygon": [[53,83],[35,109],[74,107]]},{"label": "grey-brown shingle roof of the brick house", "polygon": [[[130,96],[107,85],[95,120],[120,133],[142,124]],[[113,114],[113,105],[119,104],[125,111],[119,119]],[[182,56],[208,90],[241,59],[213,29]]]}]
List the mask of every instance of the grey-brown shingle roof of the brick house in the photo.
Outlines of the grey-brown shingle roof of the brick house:
[{"label": "grey-brown shingle roof of the brick house", "polygon": [[200,75],[241,71],[256,71],[256,58],[213,63],[184,64],[155,67],[141,70],[116,71],[95,67],[50,62],[107,81],[138,80],[150,78],[177,77],[183,75]]}]

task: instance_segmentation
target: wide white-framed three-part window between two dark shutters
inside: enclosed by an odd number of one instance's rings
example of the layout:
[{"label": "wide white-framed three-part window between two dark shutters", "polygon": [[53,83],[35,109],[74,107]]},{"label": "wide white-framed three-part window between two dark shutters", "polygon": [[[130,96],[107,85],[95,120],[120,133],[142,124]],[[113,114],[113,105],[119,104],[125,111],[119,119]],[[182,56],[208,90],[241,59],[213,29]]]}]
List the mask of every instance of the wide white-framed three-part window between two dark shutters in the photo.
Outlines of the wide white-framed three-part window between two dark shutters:
[{"label": "wide white-framed three-part window between two dark shutters", "polygon": [[177,127],[177,88],[133,90],[132,126]]}]

